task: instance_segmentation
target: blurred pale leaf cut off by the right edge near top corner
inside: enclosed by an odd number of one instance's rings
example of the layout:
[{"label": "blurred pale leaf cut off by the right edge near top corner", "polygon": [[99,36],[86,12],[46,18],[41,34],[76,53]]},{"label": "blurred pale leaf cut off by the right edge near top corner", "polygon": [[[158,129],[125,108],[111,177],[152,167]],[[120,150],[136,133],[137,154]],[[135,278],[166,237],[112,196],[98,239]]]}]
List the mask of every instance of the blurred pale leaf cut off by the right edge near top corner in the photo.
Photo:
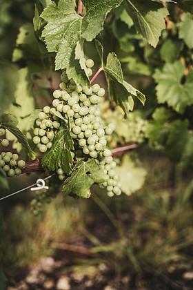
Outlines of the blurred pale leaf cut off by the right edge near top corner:
[{"label": "blurred pale leaf cut off by the right edge near top corner", "polygon": [[179,23],[179,38],[184,39],[190,49],[193,48],[193,19],[190,13],[182,14]]}]

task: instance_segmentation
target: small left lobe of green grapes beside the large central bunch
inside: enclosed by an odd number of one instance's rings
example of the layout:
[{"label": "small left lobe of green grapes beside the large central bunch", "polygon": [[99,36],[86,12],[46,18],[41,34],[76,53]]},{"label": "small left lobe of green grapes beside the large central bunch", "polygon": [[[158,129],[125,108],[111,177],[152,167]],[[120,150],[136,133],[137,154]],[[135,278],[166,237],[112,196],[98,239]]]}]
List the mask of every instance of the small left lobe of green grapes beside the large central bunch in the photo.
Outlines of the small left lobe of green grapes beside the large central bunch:
[{"label": "small left lobe of green grapes beside the large central bunch", "polygon": [[39,148],[39,151],[46,152],[52,147],[54,135],[57,133],[60,122],[59,118],[49,106],[45,106],[36,119],[37,128],[34,128],[33,142]]}]

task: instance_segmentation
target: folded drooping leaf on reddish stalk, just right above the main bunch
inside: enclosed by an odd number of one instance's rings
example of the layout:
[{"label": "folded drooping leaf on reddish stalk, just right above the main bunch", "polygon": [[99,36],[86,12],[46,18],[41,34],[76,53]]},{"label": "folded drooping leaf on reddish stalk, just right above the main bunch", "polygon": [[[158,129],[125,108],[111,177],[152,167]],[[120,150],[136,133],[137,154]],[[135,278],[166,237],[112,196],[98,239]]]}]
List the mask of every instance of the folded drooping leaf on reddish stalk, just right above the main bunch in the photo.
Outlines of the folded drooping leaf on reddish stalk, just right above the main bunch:
[{"label": "folded drooping leaf on reddish stalk, just right above the main bunch", "polygon": [[145,96],[139,90],[136,90],[136,88],[123,80],[121,64],[114,52],[109,53],[104,71],[106,75],[108,75],[110,96],[118,106],[123,108],[125,117],[128,115],[130,110],[133,110],[134,101],[132,97],[137,97],[144,105]]}]

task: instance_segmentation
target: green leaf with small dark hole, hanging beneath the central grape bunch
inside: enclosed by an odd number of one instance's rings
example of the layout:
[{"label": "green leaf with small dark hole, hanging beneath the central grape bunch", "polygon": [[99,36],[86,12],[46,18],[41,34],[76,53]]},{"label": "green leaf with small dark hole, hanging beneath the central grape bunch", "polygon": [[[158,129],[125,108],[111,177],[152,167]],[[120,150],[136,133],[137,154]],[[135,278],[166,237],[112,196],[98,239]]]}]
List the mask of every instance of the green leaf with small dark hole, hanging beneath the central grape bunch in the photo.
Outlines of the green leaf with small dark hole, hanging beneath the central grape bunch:
[{"label": "green leaf with small dark hole, hanging beneath the central grape bunch", "polygon": [[104,181],[103,171],[94,159],[91,158],[87,162],[79,160],[72,170],[72,175],[63,183],[63,197],[72,194],[88,198],[90,186]]}]

